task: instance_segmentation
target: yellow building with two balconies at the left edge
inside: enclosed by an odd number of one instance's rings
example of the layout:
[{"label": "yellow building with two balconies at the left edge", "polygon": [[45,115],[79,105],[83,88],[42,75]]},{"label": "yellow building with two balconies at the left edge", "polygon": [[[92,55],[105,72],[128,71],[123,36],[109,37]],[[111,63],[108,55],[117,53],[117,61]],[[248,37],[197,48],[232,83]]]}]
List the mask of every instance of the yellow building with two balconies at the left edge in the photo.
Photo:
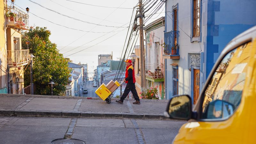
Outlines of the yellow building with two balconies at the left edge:
[{"label": "yellow building with two balconies at the left edge", "polygon": [[16,7],[0,3],[0,93],[22,94],[24,68],[28,65],[29,50],[21,47],[21,30],[28,30],[28,14]]}]

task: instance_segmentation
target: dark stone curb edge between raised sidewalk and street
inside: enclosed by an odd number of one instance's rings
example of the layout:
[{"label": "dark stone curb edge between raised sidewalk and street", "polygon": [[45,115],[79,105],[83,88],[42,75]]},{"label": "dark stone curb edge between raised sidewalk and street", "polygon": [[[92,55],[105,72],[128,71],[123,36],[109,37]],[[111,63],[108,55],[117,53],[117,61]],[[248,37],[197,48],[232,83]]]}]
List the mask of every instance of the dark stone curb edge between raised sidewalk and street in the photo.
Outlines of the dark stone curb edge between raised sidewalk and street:
[{"label": "dark stone curb edge between raised sidewalk and street", "polygon": [[18,117],[77,117],[77,118],[132,118],[132,119],[158,119],[171,120],[160,114],[138,113],[99,113],[99,112],[62,112],[62,111],[26,111],[26,110],[0,110],[0,116]]}]

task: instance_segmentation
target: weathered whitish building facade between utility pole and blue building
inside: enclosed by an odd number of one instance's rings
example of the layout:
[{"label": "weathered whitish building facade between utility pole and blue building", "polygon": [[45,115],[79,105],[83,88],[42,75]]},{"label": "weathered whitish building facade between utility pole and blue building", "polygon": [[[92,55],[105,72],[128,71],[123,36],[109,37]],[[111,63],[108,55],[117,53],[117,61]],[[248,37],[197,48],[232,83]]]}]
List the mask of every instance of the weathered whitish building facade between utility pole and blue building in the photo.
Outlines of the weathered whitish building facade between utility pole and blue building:
[{"label": "weathered whitish building facade between utility pole and blue building", "polygon": [[146,88],[156,87],[159,99],[164,99],[164,17],[145,26],[145,31]]}]

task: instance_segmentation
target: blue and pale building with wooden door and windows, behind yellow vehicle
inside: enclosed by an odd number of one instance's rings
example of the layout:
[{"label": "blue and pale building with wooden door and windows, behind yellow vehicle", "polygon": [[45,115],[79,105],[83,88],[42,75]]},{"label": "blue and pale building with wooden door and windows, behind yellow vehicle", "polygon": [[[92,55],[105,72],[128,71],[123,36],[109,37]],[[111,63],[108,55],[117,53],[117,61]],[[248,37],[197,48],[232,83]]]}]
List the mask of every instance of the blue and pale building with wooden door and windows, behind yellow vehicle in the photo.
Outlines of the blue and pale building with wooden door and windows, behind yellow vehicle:
[{"label": "blue and pale building with wooden door and windows, behind yellow vehicle", "polygon": [[188,94],[193,103],[225,45],[256,24],[256,1],[167,0],[165,94]]}]

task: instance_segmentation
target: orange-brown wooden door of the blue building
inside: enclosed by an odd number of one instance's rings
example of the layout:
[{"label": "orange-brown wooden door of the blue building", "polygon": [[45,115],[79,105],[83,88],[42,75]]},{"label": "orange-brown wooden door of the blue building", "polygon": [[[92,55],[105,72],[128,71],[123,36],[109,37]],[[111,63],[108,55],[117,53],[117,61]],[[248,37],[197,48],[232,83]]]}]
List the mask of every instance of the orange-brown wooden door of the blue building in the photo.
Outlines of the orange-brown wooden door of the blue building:
[{"label": "orange-brown wooden door of the blue building", "polygon": [[200,70],[194,69],[194,104],[199,97],[199,89],[200,89]]}]

